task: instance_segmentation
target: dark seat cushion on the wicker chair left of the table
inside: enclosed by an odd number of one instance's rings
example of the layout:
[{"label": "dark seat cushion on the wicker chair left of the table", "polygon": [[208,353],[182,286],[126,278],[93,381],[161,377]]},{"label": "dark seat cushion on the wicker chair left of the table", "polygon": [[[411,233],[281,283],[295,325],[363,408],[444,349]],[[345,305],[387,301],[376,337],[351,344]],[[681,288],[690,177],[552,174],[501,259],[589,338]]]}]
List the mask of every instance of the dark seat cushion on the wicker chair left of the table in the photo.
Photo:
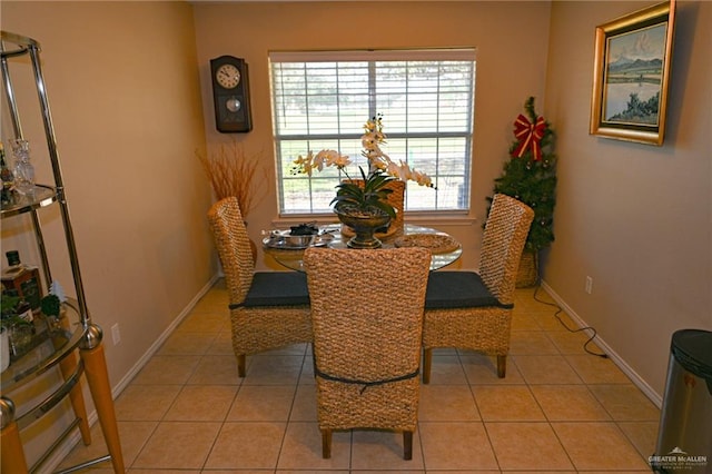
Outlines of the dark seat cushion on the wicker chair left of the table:
[{"label": "dark seat cushion on the wicker chair left of the table", "polygon": [[247,297],[238,306],[298,306],[309,304],[306,274],[300,271],[257,271]]}]

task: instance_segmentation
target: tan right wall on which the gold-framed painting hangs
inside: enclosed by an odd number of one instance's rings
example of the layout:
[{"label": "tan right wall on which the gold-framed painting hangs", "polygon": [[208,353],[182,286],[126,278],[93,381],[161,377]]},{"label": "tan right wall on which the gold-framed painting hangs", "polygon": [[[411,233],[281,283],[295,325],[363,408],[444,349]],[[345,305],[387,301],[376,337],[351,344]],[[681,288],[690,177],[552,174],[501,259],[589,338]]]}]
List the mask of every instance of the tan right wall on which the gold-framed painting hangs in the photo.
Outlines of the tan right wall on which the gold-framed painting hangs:
[{"label": "tan right wall on which the gold-framed painting hangs", "polygon": [[672,333],[712,329],[712,3],[678,4],[664,145],[589,135],[594,28],[649,4],[552,3],[560,168],[544,279],[660,402]]}]

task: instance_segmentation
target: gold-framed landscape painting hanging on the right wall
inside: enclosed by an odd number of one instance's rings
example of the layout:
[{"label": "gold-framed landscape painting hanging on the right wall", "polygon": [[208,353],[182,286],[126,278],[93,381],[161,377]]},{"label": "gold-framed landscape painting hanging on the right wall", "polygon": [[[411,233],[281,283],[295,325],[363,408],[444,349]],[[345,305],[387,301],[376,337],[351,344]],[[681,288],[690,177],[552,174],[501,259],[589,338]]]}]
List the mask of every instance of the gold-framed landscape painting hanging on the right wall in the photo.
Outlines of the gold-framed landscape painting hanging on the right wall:
[{"label": "gold-framed landscape painting hanging on the right wall", "polygon": [[596,27],[591,135],[661,146],[675,0]]}]

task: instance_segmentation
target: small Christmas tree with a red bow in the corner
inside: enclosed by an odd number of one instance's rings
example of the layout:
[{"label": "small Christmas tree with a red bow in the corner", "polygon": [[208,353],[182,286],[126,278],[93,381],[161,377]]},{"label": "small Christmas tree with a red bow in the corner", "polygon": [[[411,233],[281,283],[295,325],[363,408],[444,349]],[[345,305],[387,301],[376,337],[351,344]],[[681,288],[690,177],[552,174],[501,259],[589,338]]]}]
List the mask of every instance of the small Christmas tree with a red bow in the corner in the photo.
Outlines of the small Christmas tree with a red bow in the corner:
[{"label": "small Christmas tree with a red bow in the corner", "polygon": [[504,165],[502,176],[495,179],[494,192],[512,196],[534,210],[534,221],[526,238],[525,250],[537,259],[538,250],[548,247],[554,240],[554,130],[534,110],[533,97],[526,100],[524,110],[526,116],[520,115],[514,121],[515,139],[510,147],[511,158]]}]

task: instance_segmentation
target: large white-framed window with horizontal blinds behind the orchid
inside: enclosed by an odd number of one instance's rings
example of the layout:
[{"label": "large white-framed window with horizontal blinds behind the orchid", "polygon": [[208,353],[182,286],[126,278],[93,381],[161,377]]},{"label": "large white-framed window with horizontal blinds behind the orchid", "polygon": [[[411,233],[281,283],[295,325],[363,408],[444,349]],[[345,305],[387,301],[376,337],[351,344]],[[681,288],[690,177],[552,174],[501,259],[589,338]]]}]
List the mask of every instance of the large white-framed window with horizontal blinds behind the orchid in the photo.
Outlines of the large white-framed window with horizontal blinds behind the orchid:
[{"label": "large white-framed window with horizontal blinds behind the orchid", "polygon": [[384,151],[437,187],[409,181],[405,209],[468,208],[474,49],[273,52],[269,60],[281,215],[330,211],[338,170],[309,178],[294,174],[293,161],[336,149],[353,161],[348,174],[359,176],[363,126],[377,113]]}]

